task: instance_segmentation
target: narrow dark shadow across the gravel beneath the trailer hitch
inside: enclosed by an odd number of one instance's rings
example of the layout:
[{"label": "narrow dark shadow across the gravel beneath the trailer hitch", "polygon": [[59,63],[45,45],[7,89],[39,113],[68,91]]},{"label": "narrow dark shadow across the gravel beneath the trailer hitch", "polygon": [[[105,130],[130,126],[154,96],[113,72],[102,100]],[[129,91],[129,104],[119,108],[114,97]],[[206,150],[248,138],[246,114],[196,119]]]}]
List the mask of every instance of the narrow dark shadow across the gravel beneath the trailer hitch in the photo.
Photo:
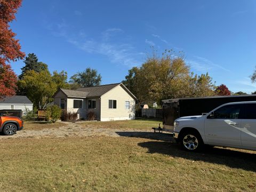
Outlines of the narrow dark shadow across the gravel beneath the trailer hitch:
[{"label": "narrow dark shadow across the gravel beneath the trailer hitch", "polygon": [[116,132],[121,137],[136,137],[145,139],[154,139],[158,141],[173,142],[173,135],[170,133],[154,133],[154,132],[137,132],[137,131],[124,131]]}]

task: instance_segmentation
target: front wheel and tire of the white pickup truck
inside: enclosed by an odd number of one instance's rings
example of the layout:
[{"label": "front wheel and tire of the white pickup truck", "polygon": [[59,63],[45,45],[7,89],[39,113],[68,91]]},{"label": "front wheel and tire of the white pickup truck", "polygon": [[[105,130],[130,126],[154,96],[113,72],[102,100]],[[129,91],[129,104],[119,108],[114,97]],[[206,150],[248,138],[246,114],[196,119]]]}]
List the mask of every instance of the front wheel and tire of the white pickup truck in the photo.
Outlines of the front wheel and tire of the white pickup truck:
[{"label": "front wheel and tire of the white pickup truck", "polygon": [[182,149],[187,151],[199,151],[204,146],[201,135],[196,131],[185,131],[179,139]]}]

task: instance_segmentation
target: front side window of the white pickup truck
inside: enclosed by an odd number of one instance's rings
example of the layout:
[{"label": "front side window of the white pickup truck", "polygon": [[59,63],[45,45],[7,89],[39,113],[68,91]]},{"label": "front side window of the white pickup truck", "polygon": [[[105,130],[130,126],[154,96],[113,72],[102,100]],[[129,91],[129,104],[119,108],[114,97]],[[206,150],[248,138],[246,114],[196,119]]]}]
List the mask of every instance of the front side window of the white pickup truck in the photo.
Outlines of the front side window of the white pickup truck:
[{"label": "front side window of the white pickup truck", "polygon": [[[227,105],[214,111],[215,119],[238,119],[242,105]],[[208,118],[208,117],[207,117]]]}]

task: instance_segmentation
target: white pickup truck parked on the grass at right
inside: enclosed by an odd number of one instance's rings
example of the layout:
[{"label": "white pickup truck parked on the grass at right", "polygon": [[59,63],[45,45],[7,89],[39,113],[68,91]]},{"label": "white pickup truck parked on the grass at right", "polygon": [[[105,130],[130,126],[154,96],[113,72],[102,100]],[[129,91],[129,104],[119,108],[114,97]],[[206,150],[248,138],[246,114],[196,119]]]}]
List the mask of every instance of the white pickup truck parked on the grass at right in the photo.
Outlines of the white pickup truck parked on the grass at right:
[{"label": "white pickup truck parked on the grass at right", "polygon": [[180,117],[173,134],[189,151],[204,145],[256,150],[256,101],[226,103],[206,115]]}]

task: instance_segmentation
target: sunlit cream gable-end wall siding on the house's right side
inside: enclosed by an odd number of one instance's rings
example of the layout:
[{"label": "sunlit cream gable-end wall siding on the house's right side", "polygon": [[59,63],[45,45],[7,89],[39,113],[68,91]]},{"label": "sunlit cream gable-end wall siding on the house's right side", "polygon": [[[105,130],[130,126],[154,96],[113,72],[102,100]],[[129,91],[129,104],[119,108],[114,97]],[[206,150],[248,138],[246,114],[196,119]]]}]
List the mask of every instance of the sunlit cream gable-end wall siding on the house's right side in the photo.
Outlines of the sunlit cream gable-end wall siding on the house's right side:
[{"label": "sunlit cream gable-end wall siding on the house's right side", "polygon": [[[116,109],[109,109],[109,100],[116,100]],[[125,109],[130,101],[130,109]],[[101,121],[116,121],[135,118],[135,100],[120,85],[101,96]]]}]

